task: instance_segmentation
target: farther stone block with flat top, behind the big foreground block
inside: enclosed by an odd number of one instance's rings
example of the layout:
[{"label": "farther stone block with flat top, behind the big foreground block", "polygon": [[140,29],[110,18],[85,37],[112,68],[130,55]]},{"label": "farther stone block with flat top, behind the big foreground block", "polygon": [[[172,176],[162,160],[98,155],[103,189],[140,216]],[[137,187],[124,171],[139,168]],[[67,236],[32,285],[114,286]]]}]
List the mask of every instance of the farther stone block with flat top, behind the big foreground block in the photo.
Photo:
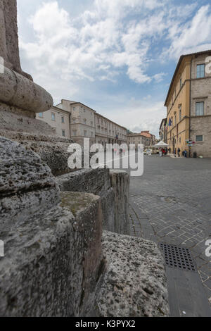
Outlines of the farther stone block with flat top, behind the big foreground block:
[{"label": "farther stone block with flat top, behind the big foreground block", "polygon": [[122,170],[77,170],[56,178],[61,191],[101,196],[103,229],[129,235],[129,175]]}]

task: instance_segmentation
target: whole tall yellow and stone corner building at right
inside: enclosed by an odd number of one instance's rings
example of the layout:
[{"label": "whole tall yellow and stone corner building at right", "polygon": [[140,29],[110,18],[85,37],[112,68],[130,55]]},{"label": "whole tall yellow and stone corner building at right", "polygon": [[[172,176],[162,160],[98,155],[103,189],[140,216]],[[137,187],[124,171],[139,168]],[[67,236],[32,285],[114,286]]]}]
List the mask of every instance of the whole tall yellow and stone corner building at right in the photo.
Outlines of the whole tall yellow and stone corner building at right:
[{"label": "whole tall yellow and stone corner building at right", "polygon": [[[167,94],[167,143],[211,156],[211,73],[207,68],[211,51],[182,55]],[[208,66],[209,67],[209,66]],[[187,141],[193,142],[188,146]]]}]

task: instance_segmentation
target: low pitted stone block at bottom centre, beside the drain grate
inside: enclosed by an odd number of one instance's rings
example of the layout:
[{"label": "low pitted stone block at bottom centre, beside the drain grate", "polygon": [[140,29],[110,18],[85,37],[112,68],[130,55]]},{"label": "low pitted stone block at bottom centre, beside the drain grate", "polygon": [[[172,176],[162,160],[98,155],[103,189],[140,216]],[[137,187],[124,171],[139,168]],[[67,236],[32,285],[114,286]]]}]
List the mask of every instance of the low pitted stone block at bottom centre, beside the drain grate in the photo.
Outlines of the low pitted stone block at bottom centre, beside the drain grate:
[{"label": "low pitted stone block at bottom centre, beside the drain grate", "polygon": [[106,275],[92,316],[169,315],[165,266],[156,244],[103,232],[103,256]]}]

